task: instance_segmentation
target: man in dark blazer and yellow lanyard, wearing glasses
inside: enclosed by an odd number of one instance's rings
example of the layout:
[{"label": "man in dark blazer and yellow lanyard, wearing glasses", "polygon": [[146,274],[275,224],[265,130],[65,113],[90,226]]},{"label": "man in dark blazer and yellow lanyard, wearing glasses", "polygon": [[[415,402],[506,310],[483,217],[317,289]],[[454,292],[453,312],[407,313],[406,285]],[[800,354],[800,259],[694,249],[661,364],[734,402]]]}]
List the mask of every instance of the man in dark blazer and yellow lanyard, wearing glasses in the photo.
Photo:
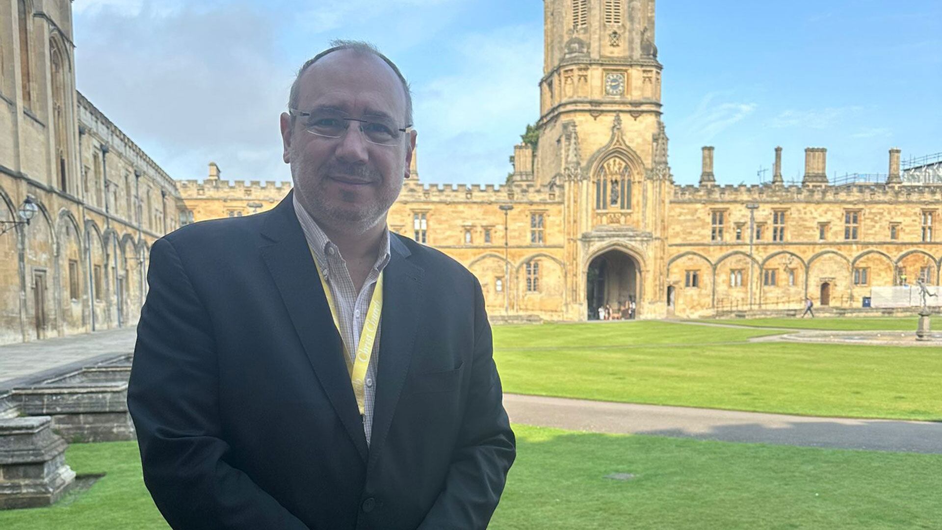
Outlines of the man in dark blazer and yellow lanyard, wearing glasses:
[{"label": "man in dark blazer and yellow lanyard, wearing glasses", "polygon": [[340,41],[281,117],[295,188],[157,240],[128,405],[174,528],[485,528],[514,458],[477,279],[386,229],[415,132]]}]

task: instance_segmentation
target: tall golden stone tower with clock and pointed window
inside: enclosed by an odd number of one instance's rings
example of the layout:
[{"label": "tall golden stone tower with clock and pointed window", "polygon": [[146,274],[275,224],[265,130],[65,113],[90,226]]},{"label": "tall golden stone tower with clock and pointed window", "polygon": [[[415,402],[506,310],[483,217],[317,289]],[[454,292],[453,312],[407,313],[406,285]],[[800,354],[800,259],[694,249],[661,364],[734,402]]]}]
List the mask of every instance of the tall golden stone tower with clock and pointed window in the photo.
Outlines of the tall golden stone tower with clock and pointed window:
[{"label": "tall golden stone tower with clock and pointed window", "polygon": [[[545,0],[535,180],[564,187],[567,313],[663,314],[672,191],[654,0]],[[660,304],[660,306],[658,306]]]}]

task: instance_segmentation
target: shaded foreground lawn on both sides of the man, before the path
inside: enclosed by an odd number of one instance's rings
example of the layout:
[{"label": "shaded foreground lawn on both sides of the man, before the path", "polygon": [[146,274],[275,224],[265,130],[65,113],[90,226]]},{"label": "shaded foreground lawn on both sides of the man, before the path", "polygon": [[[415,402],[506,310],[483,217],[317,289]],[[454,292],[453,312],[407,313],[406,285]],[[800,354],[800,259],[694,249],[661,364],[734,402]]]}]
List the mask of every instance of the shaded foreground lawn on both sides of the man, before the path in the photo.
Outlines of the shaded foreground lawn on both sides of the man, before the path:
[{"label": "shaded foreground lawn on both sides of the man, before the path", "polygon": [[[491,528],[937,528],[942,455],[840,451],[514,425],[517,461]],[[0,511],[4,530],[166,530],[134,442],[73,444],[106,472],[51,508]],[[620,482],[612,472],[635,475]]]}]

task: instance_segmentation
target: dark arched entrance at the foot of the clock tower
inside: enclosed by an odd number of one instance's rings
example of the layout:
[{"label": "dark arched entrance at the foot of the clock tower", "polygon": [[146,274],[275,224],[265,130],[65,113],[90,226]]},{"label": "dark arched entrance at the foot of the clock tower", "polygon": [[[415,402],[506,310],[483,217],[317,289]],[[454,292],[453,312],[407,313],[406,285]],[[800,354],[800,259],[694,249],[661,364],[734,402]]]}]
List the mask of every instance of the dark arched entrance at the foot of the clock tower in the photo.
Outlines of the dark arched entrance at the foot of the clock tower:
[{"label": "dark arched entrance at the foot of the clock tower", "polygon": [[634,258],[617,250],[595,257],[586,275],[589,320],[637,318],[640,285],[641,271]]}]

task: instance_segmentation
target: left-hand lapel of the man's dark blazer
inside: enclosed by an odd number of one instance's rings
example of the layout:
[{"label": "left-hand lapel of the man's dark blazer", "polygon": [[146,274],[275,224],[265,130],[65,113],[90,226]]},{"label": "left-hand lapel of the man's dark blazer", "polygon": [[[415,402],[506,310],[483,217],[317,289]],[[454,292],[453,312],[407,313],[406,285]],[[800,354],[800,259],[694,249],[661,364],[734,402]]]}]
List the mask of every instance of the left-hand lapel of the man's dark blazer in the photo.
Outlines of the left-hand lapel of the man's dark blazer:
[{"label": "left-hand lapel of the man's dark blazer", "polygon": [[314,259],[294,211],[293,193],[269,213],[262,235],[270,244],[263,244],[260,251],[317,380],[365,461],[366,437],[343,359],[343,342],[333,325],[324,289],[317,281]]}]

